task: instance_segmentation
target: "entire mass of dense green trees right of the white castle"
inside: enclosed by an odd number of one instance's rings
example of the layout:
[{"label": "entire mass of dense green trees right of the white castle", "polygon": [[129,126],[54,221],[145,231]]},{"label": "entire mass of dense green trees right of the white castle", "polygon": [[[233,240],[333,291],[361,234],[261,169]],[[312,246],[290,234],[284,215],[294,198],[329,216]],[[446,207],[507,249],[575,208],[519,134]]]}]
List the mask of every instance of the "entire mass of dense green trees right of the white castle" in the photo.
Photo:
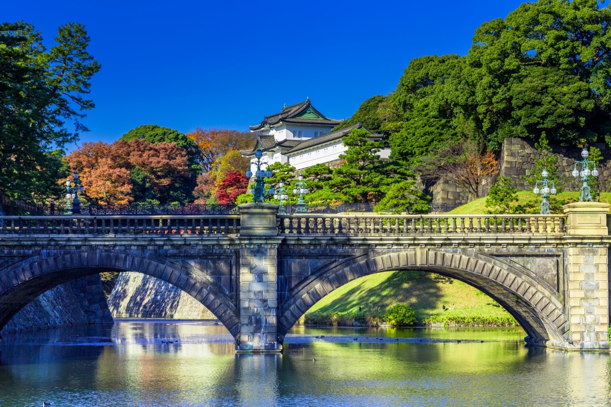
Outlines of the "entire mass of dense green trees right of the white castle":
[{"label": "entire mass of dense green trees right of the white castle", "polygon": [[599,4],[526,2],[481,24],[466,56],[412,60],[395,92],[338,128],[363,121],[389,134],[392,158],[408,164],[467,139],[493,150],[543,132],[567,146],[611,143],[611,11]]}]

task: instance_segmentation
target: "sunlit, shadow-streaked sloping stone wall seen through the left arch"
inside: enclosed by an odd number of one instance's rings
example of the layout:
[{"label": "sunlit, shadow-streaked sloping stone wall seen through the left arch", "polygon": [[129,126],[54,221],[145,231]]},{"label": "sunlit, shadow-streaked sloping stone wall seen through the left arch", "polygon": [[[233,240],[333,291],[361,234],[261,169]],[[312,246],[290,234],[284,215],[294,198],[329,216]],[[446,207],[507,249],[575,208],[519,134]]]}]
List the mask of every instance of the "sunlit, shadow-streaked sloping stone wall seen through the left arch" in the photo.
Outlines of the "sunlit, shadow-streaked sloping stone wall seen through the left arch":
[{"label": "sunlit, shadow-streaked sloping stone wall seen through the left arch", "polygon": [[191,295],[142,273],[120,273],[108,300],[112,316],[123,318],[216,319]]}]

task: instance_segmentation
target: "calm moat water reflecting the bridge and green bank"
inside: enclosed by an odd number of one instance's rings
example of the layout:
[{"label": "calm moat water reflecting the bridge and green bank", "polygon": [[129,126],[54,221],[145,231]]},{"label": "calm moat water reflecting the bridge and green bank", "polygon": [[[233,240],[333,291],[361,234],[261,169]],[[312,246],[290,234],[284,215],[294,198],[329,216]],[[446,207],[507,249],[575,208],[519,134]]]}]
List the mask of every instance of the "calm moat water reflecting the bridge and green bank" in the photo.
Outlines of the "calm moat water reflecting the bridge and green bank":
[{"label": "calm moat water reflecting the bridge and green bank", "polygon": [[236,355],[210,322],[13,334],[0,343],[0,406],[611,405],[608,354],[528,348],[524,336],[295,327],[282,354]]}]

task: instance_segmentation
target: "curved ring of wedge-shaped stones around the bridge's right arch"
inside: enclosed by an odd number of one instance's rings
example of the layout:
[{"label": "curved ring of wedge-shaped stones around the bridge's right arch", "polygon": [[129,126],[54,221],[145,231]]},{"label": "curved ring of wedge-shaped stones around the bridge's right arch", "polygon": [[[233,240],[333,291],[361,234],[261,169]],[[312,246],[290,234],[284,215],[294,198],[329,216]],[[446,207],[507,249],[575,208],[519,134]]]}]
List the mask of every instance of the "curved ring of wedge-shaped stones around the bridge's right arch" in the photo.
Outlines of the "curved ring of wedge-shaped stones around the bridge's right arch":
[{"label": "curved ring of wedge-shaped stones around the bridge's right arch", "polygon": [[571,347],[563,337],[568,330],[568,320],[562,301],[546,284],[511,266],[502,268],[492,264],[483,257],[430,249],[372,255],[341,270],[332,269],[321,274],[280,304],[279,337],[284,338],[291,326],[331,291],[362,276],[390,270],[423,270],[464,281],[507,309],[527,332],[526,340],[530,344]]}]

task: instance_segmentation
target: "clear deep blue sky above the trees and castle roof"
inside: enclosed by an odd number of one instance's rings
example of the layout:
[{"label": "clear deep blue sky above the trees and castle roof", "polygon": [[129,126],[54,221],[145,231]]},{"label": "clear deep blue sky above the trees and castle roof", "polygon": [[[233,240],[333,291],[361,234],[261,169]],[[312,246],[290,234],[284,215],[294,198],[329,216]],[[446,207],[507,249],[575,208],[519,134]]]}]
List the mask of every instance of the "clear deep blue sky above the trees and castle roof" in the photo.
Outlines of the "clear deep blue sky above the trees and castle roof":
[{"label": "clear deep blue sky above the trees and castle roof", "polygon": [[466,54],[483,21],[519,0],[5,1],[50,45],[57,27],[85,24],[93,77],[82,141],[112,142],[141,124],[247,131],[307,96],[350,117],[397,86],[411,59]]}]

